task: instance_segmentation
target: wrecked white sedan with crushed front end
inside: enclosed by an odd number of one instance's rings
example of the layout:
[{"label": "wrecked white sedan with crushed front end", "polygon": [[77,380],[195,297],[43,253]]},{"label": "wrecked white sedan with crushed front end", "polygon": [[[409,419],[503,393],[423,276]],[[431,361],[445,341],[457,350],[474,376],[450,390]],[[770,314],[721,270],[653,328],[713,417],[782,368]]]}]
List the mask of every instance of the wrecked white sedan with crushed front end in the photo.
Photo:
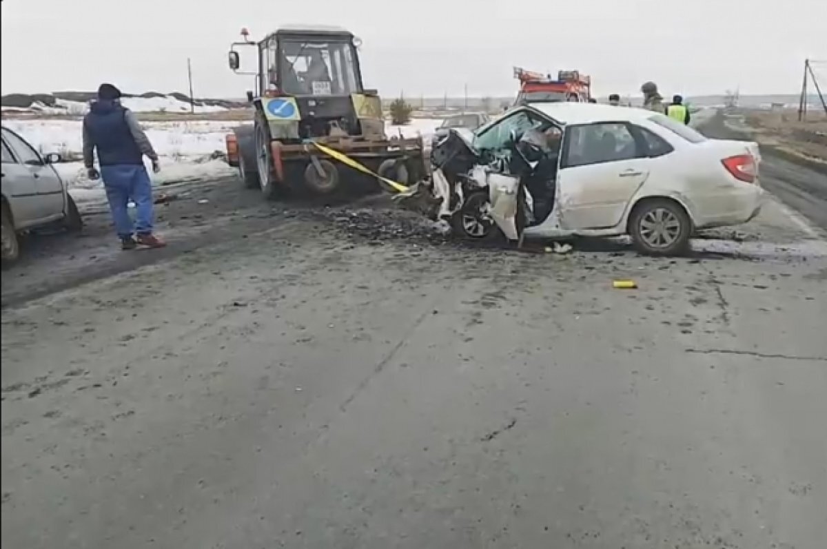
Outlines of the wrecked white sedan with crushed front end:
[{"label": "wrecked white sedan with crushed front end", "polygon": [[[529,133],[545,140],[545,169],[515,178],[487,165],[492,151]],[[756,143],[707,139],[638,108],[519,107],[477,130],[471,150],[480,159],[471,176],[447,184],[435,170],[433,191],[453,187],[448,193],[461,196],[443,199],[441,213],[469,238],[495,225],[509,240],[628,234],[639,251],[671,255],[686,250],[696,229],[748,222],[762,205]]]}]

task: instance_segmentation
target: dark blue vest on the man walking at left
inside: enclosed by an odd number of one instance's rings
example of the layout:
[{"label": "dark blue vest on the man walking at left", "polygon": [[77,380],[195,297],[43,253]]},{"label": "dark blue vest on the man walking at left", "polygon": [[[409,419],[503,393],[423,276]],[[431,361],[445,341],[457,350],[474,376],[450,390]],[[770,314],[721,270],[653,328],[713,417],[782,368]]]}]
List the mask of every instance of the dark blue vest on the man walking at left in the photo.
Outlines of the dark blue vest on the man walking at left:
[{"label": "dark blue vest on the man walking at left", "polygon": [[143,165],[143,155],[129,130],[127,109],[113,101],[92,103],[84,117],[84,126],[98,149],[102,166]]}]

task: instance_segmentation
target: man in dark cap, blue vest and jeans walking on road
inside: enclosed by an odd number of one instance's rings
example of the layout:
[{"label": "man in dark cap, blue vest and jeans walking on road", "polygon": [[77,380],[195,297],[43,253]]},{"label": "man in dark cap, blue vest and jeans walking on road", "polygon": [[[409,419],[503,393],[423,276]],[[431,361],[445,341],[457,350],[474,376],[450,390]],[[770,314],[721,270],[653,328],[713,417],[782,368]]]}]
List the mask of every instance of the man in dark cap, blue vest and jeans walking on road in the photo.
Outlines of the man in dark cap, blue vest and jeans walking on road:
[{"label": "man in dark cap, blue vest and jeans walking on road", "polygon": [[[158,155],[135,115],[121,105],[120,99],[121,91],[112,84],[98,88],[98,100],[84,117],[84,165],[89,179],[103,178],[122,248],[160,248],[165,242],[152,233],[152,181],[143,160],[144,155],[148,156],[153,171],[158,173]],[[100,172],[94,167],[96,149]],[[128,209],[130,200],[135,203],[134,225]]]}]

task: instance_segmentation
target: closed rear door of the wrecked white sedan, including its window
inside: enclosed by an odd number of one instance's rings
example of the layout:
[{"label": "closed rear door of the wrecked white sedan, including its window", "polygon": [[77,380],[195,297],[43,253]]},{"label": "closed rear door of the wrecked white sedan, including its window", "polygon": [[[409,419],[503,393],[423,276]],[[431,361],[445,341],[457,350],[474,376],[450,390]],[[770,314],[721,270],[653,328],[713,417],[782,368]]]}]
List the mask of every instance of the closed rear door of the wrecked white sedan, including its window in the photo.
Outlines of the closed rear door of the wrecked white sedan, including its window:
[{"label": "closed rear door of the wrecked white sedan, including its window", "polygon": [[565,229],[614,227],[649,175],[648,150],[628,124],[566,127],[557,174],[560,223]]}]

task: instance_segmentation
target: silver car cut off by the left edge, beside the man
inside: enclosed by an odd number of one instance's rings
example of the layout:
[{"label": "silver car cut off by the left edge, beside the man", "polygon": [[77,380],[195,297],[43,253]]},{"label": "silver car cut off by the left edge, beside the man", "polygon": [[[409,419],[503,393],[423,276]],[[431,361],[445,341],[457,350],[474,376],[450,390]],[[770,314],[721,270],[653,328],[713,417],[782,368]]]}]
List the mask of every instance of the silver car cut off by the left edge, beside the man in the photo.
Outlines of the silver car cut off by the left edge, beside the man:
[{"label": "silver car cut off by the left edge, beside the man", "polygon": [[55,168],[60,155],[42,156],[21,136],[2,128],[2,264],[20,256],[18,235],[60,223],[69,231],[83,225],[78,207]]}]

